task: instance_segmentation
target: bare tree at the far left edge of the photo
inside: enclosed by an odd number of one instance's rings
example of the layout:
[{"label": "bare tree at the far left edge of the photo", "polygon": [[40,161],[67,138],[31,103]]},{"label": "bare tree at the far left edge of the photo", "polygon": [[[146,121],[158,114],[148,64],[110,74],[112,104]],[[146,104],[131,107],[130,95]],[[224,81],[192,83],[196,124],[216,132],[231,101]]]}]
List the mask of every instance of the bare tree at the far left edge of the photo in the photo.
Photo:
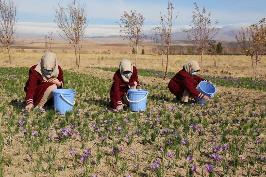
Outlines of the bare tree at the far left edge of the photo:
[{"label": "bare tree at the far left edge of the photo", "polygon": [[15,36],[17,29],[16,22],[18,20],[16,13],[18,7],[12,0],[8,2],[0,0],[0,42],[8,50],[9,62],[12,64],[10,46],[16,41]]}]

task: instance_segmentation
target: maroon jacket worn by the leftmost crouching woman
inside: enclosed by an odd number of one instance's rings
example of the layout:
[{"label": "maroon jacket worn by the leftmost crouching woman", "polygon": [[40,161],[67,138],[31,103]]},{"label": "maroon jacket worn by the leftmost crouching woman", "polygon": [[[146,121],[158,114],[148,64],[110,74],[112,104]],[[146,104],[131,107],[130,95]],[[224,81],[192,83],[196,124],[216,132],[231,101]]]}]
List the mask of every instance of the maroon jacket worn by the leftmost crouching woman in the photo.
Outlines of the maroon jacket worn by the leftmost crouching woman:
[{"label": "maroon jacket worn by the leftmost crouching woman", "polygon": [[[25,101],[27,105],[32,103],[34,107],[36,107],[41,101],[41,98],[43,98],[43,94],[45,90],[49,86],[54,84],[54,83],[43,80],[40,73],[34,70],[36,66],[37,64],[30,68],[29,79],[24,87],[24,90],[26,92]],[[61,86],[57,88],[60,89],[62,88],[64,84],[64,79],[63,79],[63,71],[61,70],[60,66],[58,66],[58,70],[59,70],[59,74],[58,74],[57,79],[61,82]]]}]

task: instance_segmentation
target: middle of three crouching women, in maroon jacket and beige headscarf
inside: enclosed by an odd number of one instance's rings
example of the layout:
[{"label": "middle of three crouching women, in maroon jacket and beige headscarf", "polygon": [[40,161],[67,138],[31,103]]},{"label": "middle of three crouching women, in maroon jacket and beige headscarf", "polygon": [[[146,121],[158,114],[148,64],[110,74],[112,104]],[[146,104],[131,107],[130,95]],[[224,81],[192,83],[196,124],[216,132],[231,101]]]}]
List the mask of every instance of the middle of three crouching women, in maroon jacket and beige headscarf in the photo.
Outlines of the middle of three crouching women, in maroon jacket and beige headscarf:
[{"label": "middle of three crouching women, in maroon jacket and beige headscarf", "polygon": [[109,106],[113,109],[122,110],[123,105],[129,105],[126,98],[128,89],[141,90],[138,81],[138,71],[128,59],[120,62],[119,69],[115,72],[114,82],[111,87]]}]

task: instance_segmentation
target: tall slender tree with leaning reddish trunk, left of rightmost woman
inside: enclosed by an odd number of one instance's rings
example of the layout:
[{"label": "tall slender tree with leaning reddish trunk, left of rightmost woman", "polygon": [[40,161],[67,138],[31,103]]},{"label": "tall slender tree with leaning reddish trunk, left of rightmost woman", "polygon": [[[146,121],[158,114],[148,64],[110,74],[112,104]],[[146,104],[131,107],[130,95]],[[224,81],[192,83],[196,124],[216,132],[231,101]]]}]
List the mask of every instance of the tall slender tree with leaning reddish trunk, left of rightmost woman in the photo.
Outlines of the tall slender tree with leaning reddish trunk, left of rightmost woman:
[{"label": "tall slender tree with leaning reddish trunk, left of rightmost woman", "polygon": [[[159,23],[161,24],[162,27],[162,32],[165,38],[165,48],[166,48],[166,54],[167,54],[167,61],[166,61],[166,69],[165,69],[165,74],[164,74],[164,79],[167,76],[167,72],[168,72],[168,59],[169,59],[169,48],[171,46],[171,35],[172,35],[172,24],[174,22],[174,20],[176,20],[177,16],[175,16],[173,18],[173,12],[172,10],[174,9],[173,4],[172,3],[168,3],[168,17],[165,15],[161,15],[160,16],[160,21]],[[166,23],[166,24],[165,24]]]}]

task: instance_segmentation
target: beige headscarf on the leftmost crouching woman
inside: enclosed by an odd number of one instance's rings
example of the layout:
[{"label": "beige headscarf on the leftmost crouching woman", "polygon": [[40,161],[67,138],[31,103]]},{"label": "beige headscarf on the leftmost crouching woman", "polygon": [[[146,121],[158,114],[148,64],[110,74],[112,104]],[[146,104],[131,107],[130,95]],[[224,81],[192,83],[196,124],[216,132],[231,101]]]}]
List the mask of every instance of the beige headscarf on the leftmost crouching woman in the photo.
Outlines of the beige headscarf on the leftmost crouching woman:
[{"label": "beige headscarf on the leftmost crouching woman", "polygon": [[[49,75],[43,72],[45,70],[53,70],[53,72]],[[57,57],[56,54],[50,51],[47,51],[41,57],[40,62],[37,64],[35,71],[39,72],[43,77],[43,80],[48,81],[49,78],[58,77],[59,69],[57,65]]]}]

